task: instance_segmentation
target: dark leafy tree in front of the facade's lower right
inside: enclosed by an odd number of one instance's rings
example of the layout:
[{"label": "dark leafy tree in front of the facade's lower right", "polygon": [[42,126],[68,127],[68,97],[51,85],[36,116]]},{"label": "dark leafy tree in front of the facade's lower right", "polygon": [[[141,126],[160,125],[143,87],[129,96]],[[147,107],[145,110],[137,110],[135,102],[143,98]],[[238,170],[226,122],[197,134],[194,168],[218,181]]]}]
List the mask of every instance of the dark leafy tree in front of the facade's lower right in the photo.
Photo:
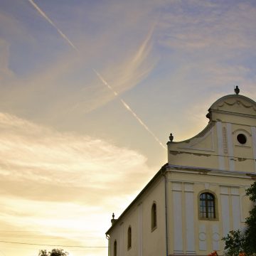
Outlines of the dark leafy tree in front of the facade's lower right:
[{"label": "dark leafy tree in front of the facade's lower right", "polygon": [[[246,195],[250,201],[256,202],[256,181],[246,190]],[[232,230],[223,238],[225,242],[225,255],[256,255],[256,205],[254,204],[250,215],[245,220],[245,232]]]}]

